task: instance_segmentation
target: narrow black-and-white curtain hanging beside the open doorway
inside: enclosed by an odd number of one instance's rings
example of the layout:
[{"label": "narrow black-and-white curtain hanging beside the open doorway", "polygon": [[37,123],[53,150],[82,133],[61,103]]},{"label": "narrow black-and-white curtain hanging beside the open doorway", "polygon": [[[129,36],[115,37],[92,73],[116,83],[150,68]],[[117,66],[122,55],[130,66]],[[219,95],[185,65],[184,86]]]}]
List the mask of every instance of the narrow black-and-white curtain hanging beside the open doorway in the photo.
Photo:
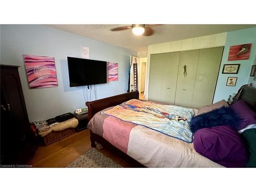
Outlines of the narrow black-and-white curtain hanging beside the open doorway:
[{"label": "narrow black-and-white curtain hanging beside the open doorway", "polygon": [[130,56],[130,74],[127,92],[139,90],[138,73],[139,73],[139,57]]}]

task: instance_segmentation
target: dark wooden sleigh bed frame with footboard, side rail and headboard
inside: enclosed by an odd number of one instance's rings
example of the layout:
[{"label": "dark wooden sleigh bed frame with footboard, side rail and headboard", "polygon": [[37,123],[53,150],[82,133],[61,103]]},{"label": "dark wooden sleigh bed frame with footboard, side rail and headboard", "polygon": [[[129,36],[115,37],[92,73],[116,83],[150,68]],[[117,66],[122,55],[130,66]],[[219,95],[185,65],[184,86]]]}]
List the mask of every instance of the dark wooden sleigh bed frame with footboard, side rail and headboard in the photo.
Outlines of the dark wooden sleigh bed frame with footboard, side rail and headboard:
[{"label": "dark wooden sleigh bed frame with footboard, side rail and headboard", "polygon": [[[86,105],[88,106],[88,120],[90,121],[93,116],[106,109],[109,108],[110,106],[115,106],[119,105],[122,102],[131,100],[131,99],[139,99],[139,92],[134,91],[134,92],[129,92],[129,93],[124,93],[108,98],[103,98],[91,102],[86,102]],[[252,87],[245,87],[242,91],[239,91],[239,99],[243,99],[250,107],[251,109],[255,112],[256,110],[256,89]],[[141,163],[139,163],[137,160],[133,159],[129,155],[125,154],[121,150],[119,150],[117,147],[112,145],[109,141],[104,139],[102,136],[93,133],[90,130],[90,139],[91,139],[91,146],[96,147],[96,143],[99,143],[102,145],[102,147],[106,148],[107,150],[111,151],[121,159],[125,160],[126,162],[129,162],[132,167],[145,167]]]}]

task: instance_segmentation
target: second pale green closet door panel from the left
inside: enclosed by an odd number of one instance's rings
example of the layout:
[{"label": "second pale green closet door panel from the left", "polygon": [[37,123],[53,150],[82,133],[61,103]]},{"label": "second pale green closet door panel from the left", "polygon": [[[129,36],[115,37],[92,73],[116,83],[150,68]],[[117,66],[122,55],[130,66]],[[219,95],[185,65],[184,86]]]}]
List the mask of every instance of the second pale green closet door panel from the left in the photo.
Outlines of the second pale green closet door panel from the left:
[{"label": "second pale green closet door panel from the left", "polygon": [[161,102],[174,104],[179,69],[180,52],[164,53]]}]

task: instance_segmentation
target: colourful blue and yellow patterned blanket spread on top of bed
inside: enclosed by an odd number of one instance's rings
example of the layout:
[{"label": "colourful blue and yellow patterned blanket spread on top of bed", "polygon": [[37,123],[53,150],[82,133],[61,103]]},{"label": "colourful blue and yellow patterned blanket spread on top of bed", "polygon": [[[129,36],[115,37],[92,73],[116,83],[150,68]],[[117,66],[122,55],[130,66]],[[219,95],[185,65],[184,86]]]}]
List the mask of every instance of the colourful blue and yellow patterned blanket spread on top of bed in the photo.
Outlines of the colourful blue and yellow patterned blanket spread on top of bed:
[{"label": "colourful blue and yellow patterned blanket spread on top of bed", "polygon": [[102,113],[188,143],[193,142],[193,133],[188,125],[194,116],[193,109],[132,99]]}]

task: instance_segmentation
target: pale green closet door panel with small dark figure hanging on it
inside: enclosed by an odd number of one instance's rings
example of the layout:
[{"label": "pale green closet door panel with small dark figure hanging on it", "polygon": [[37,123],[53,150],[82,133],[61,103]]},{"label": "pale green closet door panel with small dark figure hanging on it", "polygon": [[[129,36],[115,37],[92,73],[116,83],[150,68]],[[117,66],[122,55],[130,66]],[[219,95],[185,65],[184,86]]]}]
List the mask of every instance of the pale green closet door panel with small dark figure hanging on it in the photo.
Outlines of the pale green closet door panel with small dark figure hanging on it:
[{"label": "pale green closet door panel with small dark figure hanging on it", "polygon": [[199,53],[200,50],[182,51],[180,53],[175,105],[188,108],[191,106]]}]

